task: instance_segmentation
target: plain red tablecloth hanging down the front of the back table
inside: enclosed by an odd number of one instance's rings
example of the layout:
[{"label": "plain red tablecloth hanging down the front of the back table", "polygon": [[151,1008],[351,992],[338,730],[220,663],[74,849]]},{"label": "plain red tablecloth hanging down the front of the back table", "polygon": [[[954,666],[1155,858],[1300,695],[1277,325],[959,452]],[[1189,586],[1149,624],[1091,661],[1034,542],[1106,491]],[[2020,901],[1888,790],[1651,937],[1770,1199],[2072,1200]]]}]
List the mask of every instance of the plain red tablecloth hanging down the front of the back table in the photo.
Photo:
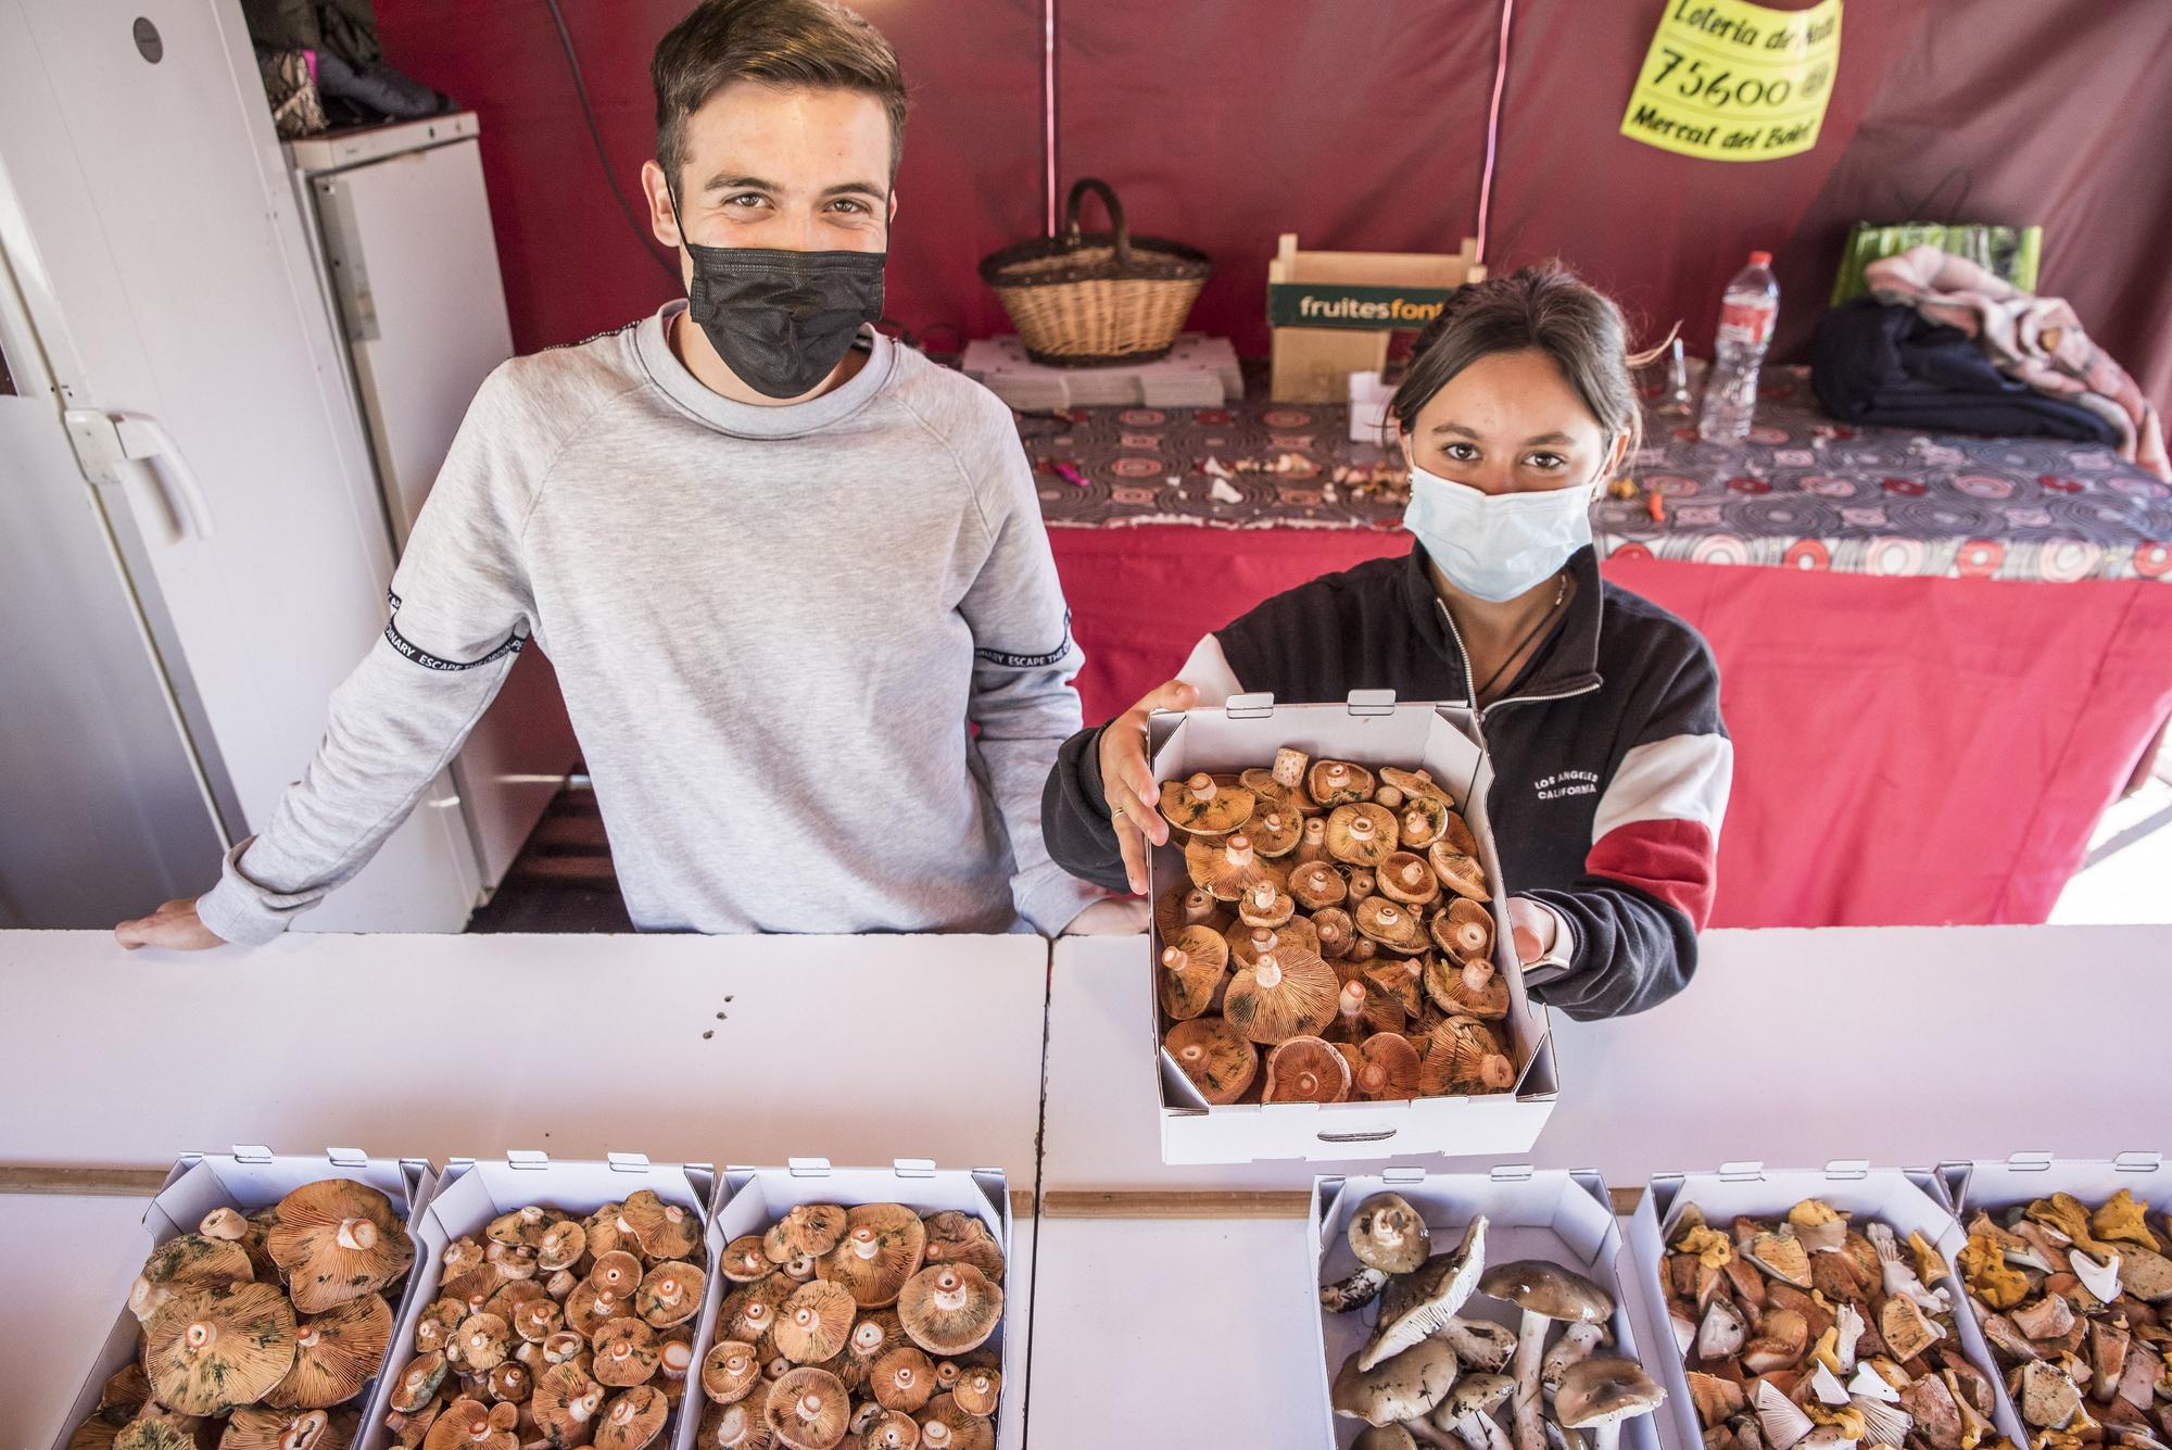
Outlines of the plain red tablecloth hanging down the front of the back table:
[{"label": "plain red tablecloth hanging down the front of the back table", "polygon": [[[1049,532],[1103,721],[1260,599],[1407,547],[1373,530]],[[1735,790],[1716,927],[2035,923],[2172,714],[2172,588],[1620,556],[1703,629]],[[1514,823],[1497,823],[1510,831]]]}]

